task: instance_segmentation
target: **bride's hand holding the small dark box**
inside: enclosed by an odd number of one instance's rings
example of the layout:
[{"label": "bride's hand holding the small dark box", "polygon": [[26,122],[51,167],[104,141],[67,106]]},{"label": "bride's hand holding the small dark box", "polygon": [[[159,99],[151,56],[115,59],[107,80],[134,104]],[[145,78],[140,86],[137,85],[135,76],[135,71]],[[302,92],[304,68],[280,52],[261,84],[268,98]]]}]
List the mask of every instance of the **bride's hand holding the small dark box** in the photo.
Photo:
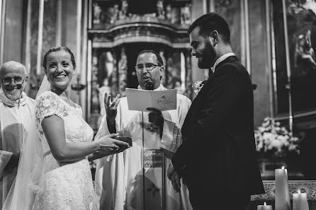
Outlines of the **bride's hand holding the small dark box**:
[{"label": "bride's hand holding the small dark box", "polygon": [[129,147],[128,143],[114,139],[115,136],[118,136],[118,134],[108,134],[96,140],[100,146],[99,150],[105,153],[108,152],[108,155],[111,155],[124,151]]}]

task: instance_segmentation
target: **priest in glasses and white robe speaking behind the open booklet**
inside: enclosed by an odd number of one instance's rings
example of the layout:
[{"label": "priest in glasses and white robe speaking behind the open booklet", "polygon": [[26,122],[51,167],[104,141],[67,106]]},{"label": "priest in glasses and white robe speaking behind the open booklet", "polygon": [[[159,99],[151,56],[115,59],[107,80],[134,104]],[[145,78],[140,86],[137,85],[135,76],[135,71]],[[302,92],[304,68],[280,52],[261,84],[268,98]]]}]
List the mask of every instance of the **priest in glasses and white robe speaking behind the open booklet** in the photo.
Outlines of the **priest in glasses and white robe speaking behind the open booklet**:
[{"label": "priest in glasses and white robe speaking behind the open booklet", "polygon": [[[162,57],[157,52],[140,52],[135,66],[138,88],[166,90],[161,84],[164,71]],[[122,210],[186,210],[192,209],[188,189],[179,192],[167,178],[167,167],[181,144],[179,129],[184,122],[191,100],[177,94],[176,110],[148,112],[128,110],[127,98],[105,96],[106,115],[96,134],[118,132],[132,138],[132,147],[123,153],[98,159],[96,163],[96,194],[100,209]]]}]

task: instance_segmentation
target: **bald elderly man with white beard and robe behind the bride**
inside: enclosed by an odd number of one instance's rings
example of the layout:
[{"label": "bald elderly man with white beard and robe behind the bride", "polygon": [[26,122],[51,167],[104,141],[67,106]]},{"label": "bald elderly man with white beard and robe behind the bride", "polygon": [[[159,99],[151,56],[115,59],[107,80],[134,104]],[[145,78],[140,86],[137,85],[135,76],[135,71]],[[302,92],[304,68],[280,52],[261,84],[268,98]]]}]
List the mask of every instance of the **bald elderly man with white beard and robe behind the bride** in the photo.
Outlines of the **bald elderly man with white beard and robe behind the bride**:
[{"label": "bald elderly man with white beard and robe behind the bride", "polygon": [[0,67],[0,202],[16,177],[23,141],[28,133],[35,101],[24,88],[28,81],[26,68],[18,62],[6,62]]}]

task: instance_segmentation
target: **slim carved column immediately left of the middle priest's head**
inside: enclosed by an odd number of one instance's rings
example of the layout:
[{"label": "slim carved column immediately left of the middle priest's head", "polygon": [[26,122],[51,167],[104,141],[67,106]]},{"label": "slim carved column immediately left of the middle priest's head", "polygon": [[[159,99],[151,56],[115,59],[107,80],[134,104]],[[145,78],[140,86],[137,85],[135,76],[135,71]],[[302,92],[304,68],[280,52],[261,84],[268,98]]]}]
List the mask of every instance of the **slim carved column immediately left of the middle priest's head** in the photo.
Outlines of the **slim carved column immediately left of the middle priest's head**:
[{"label": "slim carved column immediately left of the middle priest's head", "polygon": [[124,47],[121,49],[120,62],[118,62],[118,78],[118,93],[120,93],[120,97],[124,97],[126,95],[125,88],[128,86],[128,57]]}]

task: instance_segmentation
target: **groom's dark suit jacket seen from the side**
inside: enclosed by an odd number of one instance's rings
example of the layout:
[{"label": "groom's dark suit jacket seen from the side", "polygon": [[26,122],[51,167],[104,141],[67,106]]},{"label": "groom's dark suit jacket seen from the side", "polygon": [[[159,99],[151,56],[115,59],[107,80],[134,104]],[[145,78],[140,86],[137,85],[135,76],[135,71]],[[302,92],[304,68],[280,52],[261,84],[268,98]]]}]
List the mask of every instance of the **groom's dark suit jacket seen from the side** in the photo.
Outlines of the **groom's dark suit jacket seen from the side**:
[{"label": "groom's dark suit jacket seen from the side", "polygon": [[216,66],[193,100],[181,134],[183,143],[172,164],[187,182],[190,197],[198,185],[211,186],[208,192],[264,193],[256,161],[252,82],[237,57]]}]

